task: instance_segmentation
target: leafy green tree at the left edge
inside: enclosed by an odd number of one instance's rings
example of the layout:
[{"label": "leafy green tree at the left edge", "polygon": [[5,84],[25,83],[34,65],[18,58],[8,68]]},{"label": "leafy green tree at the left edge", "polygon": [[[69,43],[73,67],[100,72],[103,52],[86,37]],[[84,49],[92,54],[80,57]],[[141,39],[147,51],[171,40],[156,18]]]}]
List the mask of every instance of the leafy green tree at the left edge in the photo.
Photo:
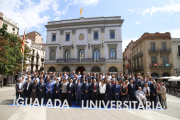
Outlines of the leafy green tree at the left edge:
[{"label": "leafy green tree at the left edge", "polygon": [[[21,44],[22,39],[17,35],[6,32],[7,25],[3,24],[0,29],[0,74],[2,74],[2,85],[4,75],[13,75],[22,69],[22,57]],[[31,57],[30,48],[25,45],[24,50],[24,65],[25,69],[27,64],[26,60]]]}]

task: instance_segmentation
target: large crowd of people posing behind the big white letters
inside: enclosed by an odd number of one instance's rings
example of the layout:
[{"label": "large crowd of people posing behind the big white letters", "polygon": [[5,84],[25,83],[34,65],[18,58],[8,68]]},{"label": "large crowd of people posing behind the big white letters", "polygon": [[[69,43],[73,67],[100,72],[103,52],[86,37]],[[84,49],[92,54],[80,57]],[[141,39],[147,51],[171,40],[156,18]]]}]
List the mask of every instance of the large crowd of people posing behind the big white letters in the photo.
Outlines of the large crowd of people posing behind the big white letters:
[{"label": "large crowd of people posing behind the big white letters", "polygon": [[[134,74],[103,74],[89,73],[82,74],[75,71],[64,72],[33,72],[24,74],[18,78],[16,83],[16,97],[24,97],[32,102],[39,99],[67,99],[69,106],[76,101],[76,106],[81,106],[84,100],[104,101],[146,101],[156,103],[160,101],[162,108],[167,109],[166,87],[163,82],[155,81],[150,75]],[[124,106],[123,106],[124,107]]]}]

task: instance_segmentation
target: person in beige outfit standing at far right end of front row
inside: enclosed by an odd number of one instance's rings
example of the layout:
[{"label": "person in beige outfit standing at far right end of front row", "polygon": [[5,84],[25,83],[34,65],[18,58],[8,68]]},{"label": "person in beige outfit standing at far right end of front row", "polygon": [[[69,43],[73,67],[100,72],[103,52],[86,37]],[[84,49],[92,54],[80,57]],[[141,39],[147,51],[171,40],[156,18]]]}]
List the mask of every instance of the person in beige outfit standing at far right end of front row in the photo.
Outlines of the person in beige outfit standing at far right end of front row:
[{"label": "person in beige outfit standing at far right end of front row", "polygon": [[161,88],[158,93],[161,95],[161,106],[162,108],[167,109],[167,103],[166,103],[166,87],[164,86],[164,83],[161,82]]}]

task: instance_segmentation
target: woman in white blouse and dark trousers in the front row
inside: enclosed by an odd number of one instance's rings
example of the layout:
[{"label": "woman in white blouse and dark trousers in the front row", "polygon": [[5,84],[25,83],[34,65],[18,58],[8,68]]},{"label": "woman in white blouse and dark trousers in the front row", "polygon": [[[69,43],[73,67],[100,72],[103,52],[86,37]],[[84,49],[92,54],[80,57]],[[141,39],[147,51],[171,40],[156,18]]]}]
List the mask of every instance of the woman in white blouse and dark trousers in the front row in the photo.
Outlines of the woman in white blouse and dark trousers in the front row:
[{"label": "woman in white blouse and dark trousers in the front row", "polygon": [[100,100],[105,100],[105,92],[106,92],[106,84],[104,84],[104,80],[99,83],[99,93],[100,93]]}]

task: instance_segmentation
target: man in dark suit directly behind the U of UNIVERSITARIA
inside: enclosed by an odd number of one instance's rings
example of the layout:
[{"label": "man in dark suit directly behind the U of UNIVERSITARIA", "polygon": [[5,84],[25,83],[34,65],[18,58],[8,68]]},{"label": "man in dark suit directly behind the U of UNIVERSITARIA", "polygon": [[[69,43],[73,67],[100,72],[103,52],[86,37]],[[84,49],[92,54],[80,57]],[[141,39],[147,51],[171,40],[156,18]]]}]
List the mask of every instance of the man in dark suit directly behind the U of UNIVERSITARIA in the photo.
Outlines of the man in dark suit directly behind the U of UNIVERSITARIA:
[{"label": "man in dark suit directly behind the U of UNIVERSITARIA", "polygon": [[89,100],[89,91],[90,91],[90,83],[88,83],[88,79],[86,79],[86,83],[83,87],[83,98],[84,98],[84,105],[86,105],[86,100]]}]

